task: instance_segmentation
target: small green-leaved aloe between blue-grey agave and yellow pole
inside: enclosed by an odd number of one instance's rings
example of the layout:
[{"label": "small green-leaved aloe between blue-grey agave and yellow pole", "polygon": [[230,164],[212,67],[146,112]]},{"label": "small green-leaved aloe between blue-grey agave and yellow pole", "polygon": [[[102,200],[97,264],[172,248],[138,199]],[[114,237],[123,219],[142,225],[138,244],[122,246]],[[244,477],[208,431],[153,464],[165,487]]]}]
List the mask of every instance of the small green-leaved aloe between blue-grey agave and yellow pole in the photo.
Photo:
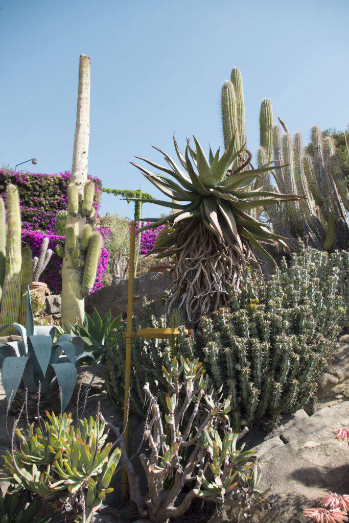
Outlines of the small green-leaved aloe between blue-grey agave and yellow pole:
[{"label": "small green-leaved aloe between blue-grey agave and yellow pole", "polygon": [[60,328],[62,334],[72,333],[75,336],[80,336],[84,341],[85,350],[93,354],[97,363],[104,363],[107,348],[115,343],[115,333],[120,327],[121,314],[111,321],[111,311],[109,310],[104,316],[103,320],[98,314],[96,308],[93,316],[89,316],[85,312],[84,323],[80,325],[72,325],[71,323],[63,324]]}]

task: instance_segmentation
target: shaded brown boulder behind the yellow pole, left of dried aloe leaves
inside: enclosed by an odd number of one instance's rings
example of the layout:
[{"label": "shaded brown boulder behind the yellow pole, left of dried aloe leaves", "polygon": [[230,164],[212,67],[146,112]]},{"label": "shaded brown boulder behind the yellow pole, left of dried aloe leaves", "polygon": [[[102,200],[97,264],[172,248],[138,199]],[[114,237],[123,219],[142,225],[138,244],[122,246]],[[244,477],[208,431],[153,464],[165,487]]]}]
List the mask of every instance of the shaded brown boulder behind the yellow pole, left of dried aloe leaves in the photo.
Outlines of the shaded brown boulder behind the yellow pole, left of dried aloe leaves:
[{"label": "shaded brown boulder behind the yellow pole, left of dried aloe leaves", "polygon": [[[169,271],[152,272],[140,278],[134,278],[133,285],[133,314],[139,315],[143,311],[143,297],[155,302],[155,312],[160,312],[160,297],[170,285]],[[119,280],[117,285],[103,287],[85,298],[85,310],[93,314],[94,308],[101,316],[109,309],[113,318],[122,313],[127,314],[128,280]]]}]

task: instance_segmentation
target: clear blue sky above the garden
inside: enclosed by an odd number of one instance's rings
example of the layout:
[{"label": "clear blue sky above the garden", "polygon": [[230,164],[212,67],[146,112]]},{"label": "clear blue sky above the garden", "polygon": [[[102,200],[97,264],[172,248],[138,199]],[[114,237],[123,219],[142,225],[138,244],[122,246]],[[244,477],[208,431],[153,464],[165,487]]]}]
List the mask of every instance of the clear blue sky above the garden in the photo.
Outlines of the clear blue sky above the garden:
[{"label": "clear blue sky above the garden", "polygon": [[[91,58],[89,173],[159,195],[134,155],[161,160],[195,134],[222,145],[220,91],[239,66],[247,146],[256,154],[263,98],[305,142],[310,127],[349,121],[347,0],[0,0],[0,165],[71,168],[78,58]],[[105,195],[102,213],[132,217]],[[159,215],[144,206],[145,215]]]}]

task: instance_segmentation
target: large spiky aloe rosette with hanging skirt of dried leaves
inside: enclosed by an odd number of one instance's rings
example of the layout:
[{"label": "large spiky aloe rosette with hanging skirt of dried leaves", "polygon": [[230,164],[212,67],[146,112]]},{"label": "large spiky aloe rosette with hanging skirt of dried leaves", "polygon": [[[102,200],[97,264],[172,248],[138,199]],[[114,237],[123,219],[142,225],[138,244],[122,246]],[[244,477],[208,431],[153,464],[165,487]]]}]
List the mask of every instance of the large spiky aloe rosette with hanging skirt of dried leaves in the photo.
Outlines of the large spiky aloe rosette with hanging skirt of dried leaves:
[{"label": "large spiky aloe rosette with hanging skirt of dried leaves", "polygon": [[[154,149],[164,155],[168,167],[136,156],[173,179],[154,174],[131,162],[171,199],[142,199],[143,203],[157,203],[174,211],[163,219],[144,218],[144,221],[152,223],[139,229],[138,233],[164,223],[172,225],[171,234],[153,252],[157,252],[158,257],[176,255],[168,309],[171,312],[183,306],[192,324],[198,323],[202,314],[225,306],[232,286],[239,291],[246,265],[254,263],[259,267],[260,260],[253,249],[275,263],[262,244],[287,248],[283,236],[273,234],[267,225],[248,214],[251,209],[302,198],[265,191],[263,187],[251,189],[256,178],[282,166],[267,164],[258,169],[245,170],[251,166],[252,155],[245,149],[245,144],[237,150],[235,135],[221,157],[219,149],[215,155],[210,149],[207,158],[195,137],[194,142],[196,150],[188,141],[183,155],[174,138],[181,167],[157,147]],[[247,156],[247,160],[243,156]],[[139,198],[128,200],[140,201]]]}]

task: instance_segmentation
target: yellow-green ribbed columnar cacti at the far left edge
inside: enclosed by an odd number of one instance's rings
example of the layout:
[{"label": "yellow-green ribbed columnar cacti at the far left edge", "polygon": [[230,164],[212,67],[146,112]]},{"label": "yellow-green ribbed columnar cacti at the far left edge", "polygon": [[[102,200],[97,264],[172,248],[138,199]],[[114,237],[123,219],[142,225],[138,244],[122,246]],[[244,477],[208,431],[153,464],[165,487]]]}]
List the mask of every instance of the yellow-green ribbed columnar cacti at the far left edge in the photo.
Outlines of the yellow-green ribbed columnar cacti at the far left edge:
[{"label": "yellow-green ribbed columnar cacti at the far left edge", "polygon": [[[26,289],[31,287],[32,261],[29,246],[21,247],[21,219],[16,186],[6,188],[7,223],[4,200],[0,197],[0,327],[21,321],[25,316]],[[7,328],[4,335],[14,331]]]}]

